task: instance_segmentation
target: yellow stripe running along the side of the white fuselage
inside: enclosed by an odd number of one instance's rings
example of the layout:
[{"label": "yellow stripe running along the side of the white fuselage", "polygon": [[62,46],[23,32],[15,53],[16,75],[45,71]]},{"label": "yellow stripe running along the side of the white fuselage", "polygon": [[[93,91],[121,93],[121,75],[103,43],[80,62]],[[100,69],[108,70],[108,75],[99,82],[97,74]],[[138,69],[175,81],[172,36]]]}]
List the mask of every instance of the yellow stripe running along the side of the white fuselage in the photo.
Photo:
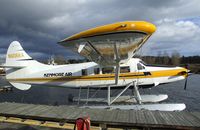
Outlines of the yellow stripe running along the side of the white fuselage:
[{"label": "yellow stripe running along the side of the white fuselage", "polygon": [[[122,73],[119,75],[119,79],[135,79],[135,78],[156,78],[156,77],[166,77],[166,76],[186,76],[186,69],[174,69],[174,70],[162,70],[162,71],[151,71],[151,75],[144,75],[143,72],[131,72]],[[12,82],[56,82],[56,81],[91,81],[91,80],[115,80],[114,74],[98,74],[89,76],[68,76],[68,77],[42,77],[42,78],[18,78],[18,79],[8,79]]]}]

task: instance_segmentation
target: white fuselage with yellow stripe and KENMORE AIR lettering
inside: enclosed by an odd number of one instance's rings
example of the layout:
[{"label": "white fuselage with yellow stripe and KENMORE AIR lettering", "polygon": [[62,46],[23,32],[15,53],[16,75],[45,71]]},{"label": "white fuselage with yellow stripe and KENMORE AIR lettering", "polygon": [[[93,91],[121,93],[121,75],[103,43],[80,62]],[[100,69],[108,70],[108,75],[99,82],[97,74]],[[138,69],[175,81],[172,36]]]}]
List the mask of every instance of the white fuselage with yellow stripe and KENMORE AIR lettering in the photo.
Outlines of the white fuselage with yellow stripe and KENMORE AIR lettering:
[{"label": "white fuselage with yellow stripe and KENMORE AIR lettering", "polygon": [[[26,63],[25,63],[26,64]],[[67,65],[45,65],[35,60],[27,61],[27,67],[7,73],[9,82],[42,84],[70,88],[107,87],[115,83],[115,67],[101,67],[94,62]],[[137,81],[140,86],[156,86],[185,78],[181,67],[154,67],[132,58],[120,65],[118,86]],[[9,72],[9,71],[7,71]]]}]

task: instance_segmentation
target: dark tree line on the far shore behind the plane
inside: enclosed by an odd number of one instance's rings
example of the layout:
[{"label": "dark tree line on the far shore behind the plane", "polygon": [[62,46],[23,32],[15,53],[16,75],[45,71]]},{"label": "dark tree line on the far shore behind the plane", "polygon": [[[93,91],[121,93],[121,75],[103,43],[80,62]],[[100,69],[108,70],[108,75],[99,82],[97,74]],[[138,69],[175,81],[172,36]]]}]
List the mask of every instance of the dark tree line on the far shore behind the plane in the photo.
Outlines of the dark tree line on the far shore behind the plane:
[{"label": "dark tree line on the far shore behind the plane", "polygon": [[[167,66],[187,66],[192,72],[200,73],[200,56],[180,56],[177,51],[171,55],[167,52],[159,52],[157,56],[139,56],[135,57],[142,59],[147,64],[167,65]],[[89,62],[87,59],[66,59],[64,56],[58,55],[53,57],[54,62],[60,64],[75,64]],[[43,63],[48,63],[47,60]]]}]

